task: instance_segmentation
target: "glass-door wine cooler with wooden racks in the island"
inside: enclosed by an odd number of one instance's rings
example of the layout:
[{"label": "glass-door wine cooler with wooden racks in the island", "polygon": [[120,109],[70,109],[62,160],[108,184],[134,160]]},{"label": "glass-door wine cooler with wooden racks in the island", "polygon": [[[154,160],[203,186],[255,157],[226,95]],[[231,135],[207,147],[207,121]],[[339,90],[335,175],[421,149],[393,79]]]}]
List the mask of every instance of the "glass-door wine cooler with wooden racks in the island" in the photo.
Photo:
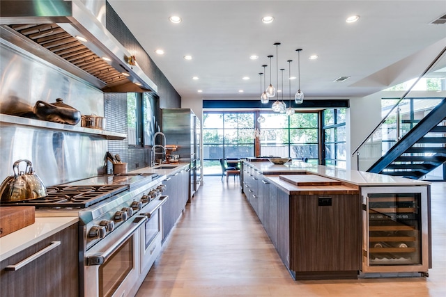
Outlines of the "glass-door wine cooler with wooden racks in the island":
[{"label": "glass-door wine cooler with wooden racks in the island", "polygon": [[427,186],[364,187],[362,272],[428,275]]}]

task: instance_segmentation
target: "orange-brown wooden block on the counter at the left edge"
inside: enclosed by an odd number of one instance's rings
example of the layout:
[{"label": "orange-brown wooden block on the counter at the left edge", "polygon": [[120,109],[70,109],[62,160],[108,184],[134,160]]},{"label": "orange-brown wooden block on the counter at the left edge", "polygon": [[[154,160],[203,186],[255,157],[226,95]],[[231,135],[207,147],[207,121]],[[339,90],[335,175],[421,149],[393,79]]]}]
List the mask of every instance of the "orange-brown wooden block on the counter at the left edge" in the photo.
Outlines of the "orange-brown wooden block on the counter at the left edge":
[{"label": "orange-brown wooden block on the counter at the left edge", "polygon": [[36,207],[0,207],[0,237],[35,222]]}]

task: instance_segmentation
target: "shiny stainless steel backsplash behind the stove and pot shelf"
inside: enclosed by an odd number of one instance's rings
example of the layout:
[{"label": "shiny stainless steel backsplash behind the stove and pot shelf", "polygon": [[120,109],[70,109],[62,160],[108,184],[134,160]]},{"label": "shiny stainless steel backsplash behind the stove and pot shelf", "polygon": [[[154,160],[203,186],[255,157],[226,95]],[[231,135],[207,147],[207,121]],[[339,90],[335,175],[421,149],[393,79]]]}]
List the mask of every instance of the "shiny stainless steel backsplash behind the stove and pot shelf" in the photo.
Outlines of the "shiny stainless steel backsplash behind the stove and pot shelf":
[{"label": "shiny stainless steel backsplash behind the stove and pot shelf", "polygon": [[[29,109],[38,100],[63,102],[82,114],[104,115],[104,95],[84,81],[0,39],[0,112]],[[77,124],[77,125],[80,125]],[[28,159],[45,186],[105,172],[107,140],[100,136],[0,122],[0,182],[13,163]]]}]

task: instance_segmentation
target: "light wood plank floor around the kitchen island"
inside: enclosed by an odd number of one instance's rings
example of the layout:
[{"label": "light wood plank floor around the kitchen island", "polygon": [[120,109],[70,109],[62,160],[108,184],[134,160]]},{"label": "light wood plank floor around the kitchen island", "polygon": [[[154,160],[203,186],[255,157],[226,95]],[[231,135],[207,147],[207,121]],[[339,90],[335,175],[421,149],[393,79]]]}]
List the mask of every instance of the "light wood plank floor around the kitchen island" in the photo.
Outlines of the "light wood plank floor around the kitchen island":
[{"label": "light wood plank floor around the kitchen island", "polygon": [[446,183],[432,185],[429,278],[294,281],[240,194],[239,182],[205,177],[164,243],[142,296],[446,296]]}]

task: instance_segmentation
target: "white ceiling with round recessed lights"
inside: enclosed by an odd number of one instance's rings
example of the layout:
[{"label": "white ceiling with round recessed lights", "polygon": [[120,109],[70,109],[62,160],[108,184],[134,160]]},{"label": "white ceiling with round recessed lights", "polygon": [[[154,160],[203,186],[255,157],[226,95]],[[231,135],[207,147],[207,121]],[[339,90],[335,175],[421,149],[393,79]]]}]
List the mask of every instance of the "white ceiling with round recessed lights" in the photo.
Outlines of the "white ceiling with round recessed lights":
[{"label": "white ceiling with round recessed lights", "polygon": [[[187,99],[258,99],[259,72],[263,72],[261,65],[269,65],[270,54],[275,56],[271,70],[276,85],[275,42],[282,43],[277,50],[278,67],[286,69],[285,99],[289,96],[286,61],[293,60],[291,76],[297,76],[298,48],[303,49],[300,87],[306,98],[363,97],[420,74],[432,59],[417,58],[422,49],[446,38],[446,24],[429,24],[446,15],[445,0],[108,1]],[[183,22],[172,24],[171,15],[180,16]],[[274,22],[263,24],[265,15],[275,17]],[[360,19],[348,24],[345,19],[351,15],[360,15]],[[165,54],[157,55],[155,49],[164,49]],[[183,58],[187,54],[192,61]],[[260,58],[250,60],[253,54]],[[319,58],[309,60],[312,54]],[[398,62],[408,57],[420,65],[415,72],[402,75],[405,66]],[[270,67],[266,74],[268,85]],[[192,80],[194,76],[199,80]],[[279,72],[279,86],[280,76]],[[341,76],[351,78],[333,82]],[[197,93],[199,89],[203,92]],[[291,93],[297,89],[298,81],[291,81]]]}]

